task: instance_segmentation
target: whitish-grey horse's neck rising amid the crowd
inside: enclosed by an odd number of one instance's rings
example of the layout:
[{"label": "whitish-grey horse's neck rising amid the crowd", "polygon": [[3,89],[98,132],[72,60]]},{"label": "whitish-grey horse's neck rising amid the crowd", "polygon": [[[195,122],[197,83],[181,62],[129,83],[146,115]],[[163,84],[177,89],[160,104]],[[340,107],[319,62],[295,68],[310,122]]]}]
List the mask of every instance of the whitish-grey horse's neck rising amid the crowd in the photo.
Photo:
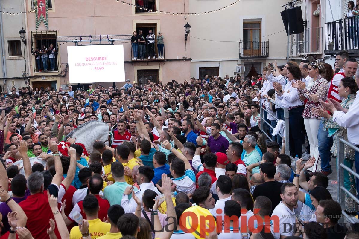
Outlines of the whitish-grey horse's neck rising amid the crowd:
[{"label": "whitish-grey horse's neck rising amid the crowd", "polygon": [[110,129],[108,124],[101,121],[92,120],[78,126],[71,133],[66,135],[63,141],[66,141],[67,138],[76,138],[75,143],[81,143],[85,145],[87,152],[91,153],[93,150],[93,143],[96,140],[100,140],[102,142],[106,141],[105,144],[109,145],[109,131]]}]

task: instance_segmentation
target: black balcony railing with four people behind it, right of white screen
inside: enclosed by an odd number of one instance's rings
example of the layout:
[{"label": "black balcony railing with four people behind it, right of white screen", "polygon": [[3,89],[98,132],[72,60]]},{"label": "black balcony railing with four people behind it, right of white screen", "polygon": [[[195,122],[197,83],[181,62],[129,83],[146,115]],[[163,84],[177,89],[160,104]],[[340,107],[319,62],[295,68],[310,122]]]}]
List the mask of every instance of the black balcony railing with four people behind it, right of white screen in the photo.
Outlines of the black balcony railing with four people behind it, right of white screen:
[{"label": "black balcony railing with four people behind it, right of white screen", "polygon": [[[150,47],[152,47],[152,46],[149,46],[148,43],[142,45],[144,47],[144,50],[143,50],[144,52],[142,54],[140,53],[141,46],[137,45],[137,56],[136,56],[135,55],[136,51],[134,52],[134,45],[131,43],[131,61],[133,61],[133,62],[139,62],[139,61],[164,61],[164,59],[165,59],[165,45],[164,45],[164,42],[163,42],[162,46],[159,46],[159,47],[158,47],[157,43],[152,44],[152,45],[153,45],[154,49],[150,49]],[[161,52],[161,49],[162,49],[162,52]],[[152,50],[154,51],[153,56],[152,56],[152,54],[150,52]]]}]

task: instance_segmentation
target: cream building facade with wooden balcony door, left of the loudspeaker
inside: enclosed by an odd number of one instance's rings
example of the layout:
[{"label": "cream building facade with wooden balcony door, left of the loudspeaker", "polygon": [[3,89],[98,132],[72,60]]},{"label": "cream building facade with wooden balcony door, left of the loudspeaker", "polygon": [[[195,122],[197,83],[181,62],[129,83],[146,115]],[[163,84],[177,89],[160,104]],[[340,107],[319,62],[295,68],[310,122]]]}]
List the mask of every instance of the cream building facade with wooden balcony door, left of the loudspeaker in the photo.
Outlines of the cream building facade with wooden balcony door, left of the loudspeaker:
[{"label": "cream building facade with wooden balcony door, left of the loudspeaker", "polygon": [[[190,11],[217,9],[233,0],[191,1]],[[191,76],[257,76],[268,63],[286,60],[280,11],[286,0],[241,0],[216,13],[191,16]],[[205,9],[203,9],[205,8]],[[237,66],[239,66],[237,68]]]}]

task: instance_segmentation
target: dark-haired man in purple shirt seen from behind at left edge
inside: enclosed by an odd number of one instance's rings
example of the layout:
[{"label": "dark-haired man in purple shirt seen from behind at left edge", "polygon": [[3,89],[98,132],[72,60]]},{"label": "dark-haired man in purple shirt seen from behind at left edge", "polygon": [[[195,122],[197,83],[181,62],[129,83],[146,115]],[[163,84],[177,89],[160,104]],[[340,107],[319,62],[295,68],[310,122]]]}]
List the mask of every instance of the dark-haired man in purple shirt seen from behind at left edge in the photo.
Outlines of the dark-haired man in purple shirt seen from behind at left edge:
[{"label": "dark-haired man in purple shirt seen from behind at left edge", "polygon": [[[13,192],[13,199],[17,204],[24,201],[27,196],[30,195],[30,191],[26,190],[26,178],[24,175],[19,173],[13,178],[13,180],[11,180],[11,191]],[[0,204],[0,213],[3,215],[2,223],[4,224],[2,233],[5,233],[10,229],[8,222],[9,212],[11,212],[10,207],[5,202],[2,202]]]}]

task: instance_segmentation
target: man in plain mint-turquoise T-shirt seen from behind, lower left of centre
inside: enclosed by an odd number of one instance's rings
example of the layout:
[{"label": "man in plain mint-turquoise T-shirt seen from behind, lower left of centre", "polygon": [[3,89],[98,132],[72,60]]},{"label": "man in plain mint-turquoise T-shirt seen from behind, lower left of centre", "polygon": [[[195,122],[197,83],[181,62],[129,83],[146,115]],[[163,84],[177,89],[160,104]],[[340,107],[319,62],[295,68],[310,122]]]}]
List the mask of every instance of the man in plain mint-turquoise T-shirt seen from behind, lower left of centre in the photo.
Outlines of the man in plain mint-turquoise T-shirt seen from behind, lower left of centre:
[{"label": "man in plain mint-turquoise T-shirt seen from behind, lower left of centre", "polygon": [[[115,183],[105,187],[103,190],[103,199],[106,199],[109,204],[121,205],[122,195],[125,192],[127,187],[132,187],[125,180],[125,169],[121,162],[113,162],[111,164],[111,173],[112,177],[115,180]],[[132,197],[132,194],[129,194],[129,199]]]}]

